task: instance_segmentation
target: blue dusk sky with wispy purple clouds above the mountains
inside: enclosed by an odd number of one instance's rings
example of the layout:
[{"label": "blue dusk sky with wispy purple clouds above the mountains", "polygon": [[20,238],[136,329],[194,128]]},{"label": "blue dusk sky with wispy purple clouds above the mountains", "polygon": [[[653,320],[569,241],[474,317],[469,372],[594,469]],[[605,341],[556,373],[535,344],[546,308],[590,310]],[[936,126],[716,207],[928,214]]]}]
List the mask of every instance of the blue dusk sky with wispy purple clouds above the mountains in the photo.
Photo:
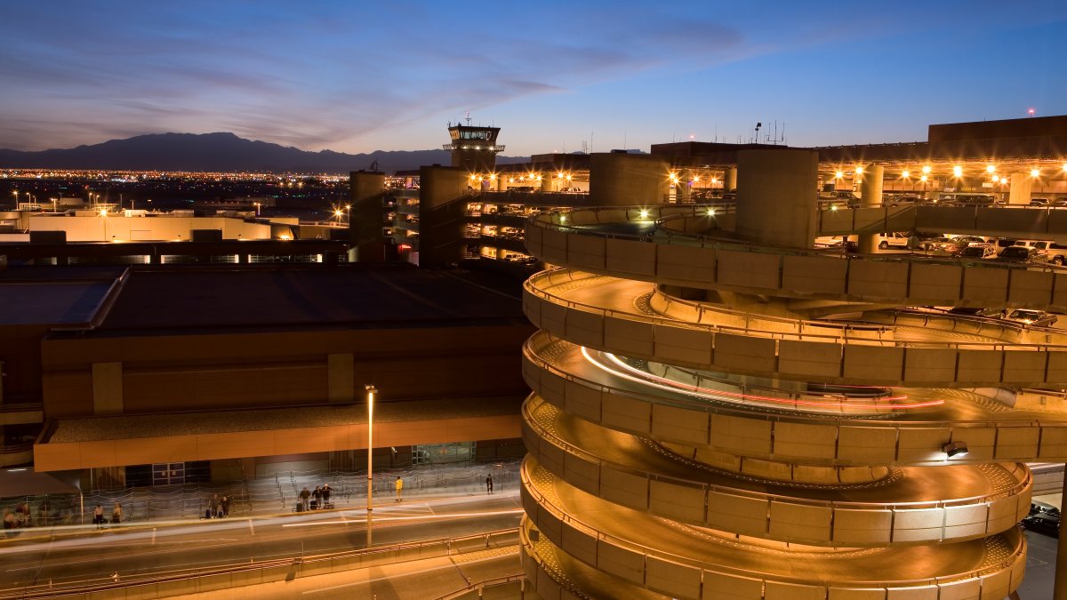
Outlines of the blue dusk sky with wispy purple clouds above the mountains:
[{"label": "blue dusk sky with wispy purple clouds above the mountains", "polygon": [[509,156],[784,128],[790,145],[924,140],[1067,114],[1067,2],[0,4],[0,147],[233,131],[426,149],[471,111]]}]

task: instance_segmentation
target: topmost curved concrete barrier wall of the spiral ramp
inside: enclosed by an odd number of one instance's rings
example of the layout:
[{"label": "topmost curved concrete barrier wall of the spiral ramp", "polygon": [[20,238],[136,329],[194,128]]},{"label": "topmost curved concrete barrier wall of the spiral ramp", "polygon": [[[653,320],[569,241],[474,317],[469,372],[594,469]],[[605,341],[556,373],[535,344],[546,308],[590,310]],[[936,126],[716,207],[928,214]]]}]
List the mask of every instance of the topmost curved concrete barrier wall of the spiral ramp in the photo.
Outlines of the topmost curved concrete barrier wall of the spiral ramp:
[{"label": "topmost curved concrete barrier wall of the spiral ramp", "polygon": [[[699,239],[690,243],[650,243],[590,235],[588,231],[557,230],[540,221],[529,223],[527,250],[544,262],[642,281],[907,305],[951,305],[978,300],[1067,312],[1067,271],[1028,270],[1025,266],[952,258],[799,253]],[[664,252],[663,248],[685,250]],[[816,265],[826,269],[817,269]],[[933,269],[934,266],[947,270]],[[960,286],[951,285],[956,272],[962,280]],[[939,274],[947,274],[950,279],[938,280]]]}]

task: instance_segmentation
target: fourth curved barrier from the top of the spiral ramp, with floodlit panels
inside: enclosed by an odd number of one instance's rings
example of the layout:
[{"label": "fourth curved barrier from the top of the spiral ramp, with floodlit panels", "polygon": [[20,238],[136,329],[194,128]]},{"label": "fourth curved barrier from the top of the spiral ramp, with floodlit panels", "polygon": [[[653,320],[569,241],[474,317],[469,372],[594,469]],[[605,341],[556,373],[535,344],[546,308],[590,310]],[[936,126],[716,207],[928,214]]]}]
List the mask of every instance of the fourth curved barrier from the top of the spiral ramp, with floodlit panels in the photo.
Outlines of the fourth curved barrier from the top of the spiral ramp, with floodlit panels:
[{"label": "fourth curved barrier from the top of the spiral ramp, with floodlit panels", "polygon": [[[984,537],[1013,526],[1030,510],[1031,479],[1025,472],[1015,494],[993,494],[952,506],[927,503],[913,507],[891,502],[783,498],[664,477],[606,462],[584,451],[563,449],[566,442],[532,423],[530,413],[541,401],[531,398],[523,409],[523,439],[537,438],[527,443],[530,454],[524,471],[543,467],[559,480],[556,485],[574,486],[627,508],[675,521],[813,546],[890,546]],[[566,453],[566,458],[560,460],[558,453]]]}]

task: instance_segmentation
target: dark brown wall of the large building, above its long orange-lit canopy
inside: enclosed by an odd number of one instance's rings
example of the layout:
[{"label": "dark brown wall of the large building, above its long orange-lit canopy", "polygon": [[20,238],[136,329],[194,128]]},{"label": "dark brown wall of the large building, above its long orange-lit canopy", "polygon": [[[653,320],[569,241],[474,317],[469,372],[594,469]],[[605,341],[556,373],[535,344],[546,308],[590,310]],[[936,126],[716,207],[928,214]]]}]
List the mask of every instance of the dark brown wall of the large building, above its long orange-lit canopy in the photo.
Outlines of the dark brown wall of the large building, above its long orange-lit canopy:
[{"label": "dark brown wall of the large building, above its long orange-lit canopy", "polygon": [[[94,414],[94,398],[102,397],[94,393],[94,363],[121,365],[122,389],[109,397],[121,398],[126,414],[323,404],[362,395],[367,381],[392,398],[519,396],[527,390],[514,364],[531,331],[515,323],[47,338],[45,413]],[[331,379],[330,356],[335,363],[350,356],[350,370],[347,361],[334,364]],[[412,377],[416,365],[419,377]],[[479,376],[469,377],[472,369]]]}]

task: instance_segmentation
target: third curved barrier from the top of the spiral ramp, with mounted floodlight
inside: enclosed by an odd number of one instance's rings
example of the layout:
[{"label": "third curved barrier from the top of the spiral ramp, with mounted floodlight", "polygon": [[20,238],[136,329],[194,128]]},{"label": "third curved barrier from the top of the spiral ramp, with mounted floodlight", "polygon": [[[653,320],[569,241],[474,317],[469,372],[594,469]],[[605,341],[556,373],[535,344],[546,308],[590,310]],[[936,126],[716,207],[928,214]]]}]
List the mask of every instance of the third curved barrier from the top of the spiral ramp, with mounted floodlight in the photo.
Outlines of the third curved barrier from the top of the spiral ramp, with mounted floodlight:
[{"label": "third curved barrier from the top of the spiral ramp, with mounted floodlight", "polygon": [[[529,356],[524,361],[531,361]],[[539,364],[535,363],[536,367]],[[908,423],[863,422],[826,419],[768,419],[760,413],[712,408],[708,405],[665,402],[652,397],[637,397],[622,390],[563,375],[545,368],[524,368],[526,382],[550,404],[567,410],[571,390],[583,391],[585,419],[610,429],[652,437],[664,442],[691,444],[691,431],[672,438],[672,429],[654,424],[653,406],[670,404],[692,413],[694,423],[707,420],[707,447],[724,453],[778,461],[803,461],[815,465],[944,465],[942,446],[964,440],[969,454],[959,462],[1065,462],[1067,461],[1067,424],[1063,422],[1024,423]],[[570,383],[570,385],[568,384]],[[592,399],[595,394],[599,398]],[[599,415],[599,417],[598,417]],[[674,413],[672,419],[676,419]],[[784,424],[787,428],[780,429]],[[803,431],[797,433],[797,430]],[[786,431],[790,445],[779,447],[779,431]],[[655,433],[654,433],[655,431]],[[799,438],[798,438],[799,436]],[[799,441],[798,441],[799,440]],[[827,448],[833,448],[829,453]],[[786,451],[789,453],[786,453]],[[793,454],[795,453],[795,454]],[[798,456],[800,455],[800,456]]]}]

